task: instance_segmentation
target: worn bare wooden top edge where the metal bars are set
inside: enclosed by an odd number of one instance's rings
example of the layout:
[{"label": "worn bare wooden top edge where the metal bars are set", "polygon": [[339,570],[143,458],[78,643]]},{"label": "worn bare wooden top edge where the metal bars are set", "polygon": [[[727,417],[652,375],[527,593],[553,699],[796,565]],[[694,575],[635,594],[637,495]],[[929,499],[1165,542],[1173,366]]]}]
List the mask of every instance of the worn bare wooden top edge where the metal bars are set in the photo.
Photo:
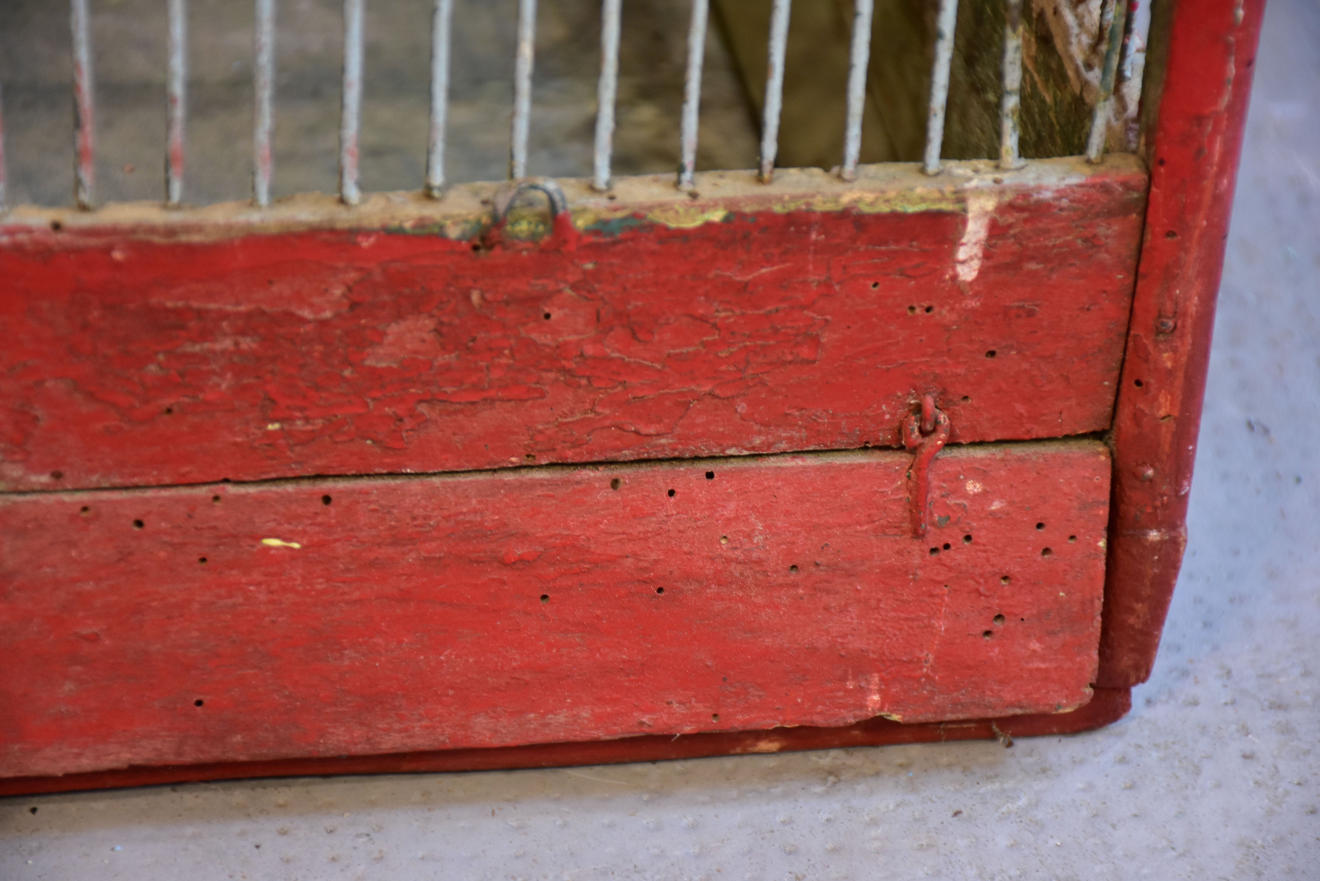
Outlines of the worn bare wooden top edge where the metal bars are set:
[{"label": "worn bare wooden top edge where the metal bars are set", "polygon": [[[842,181],[814,168],[779,169],[762,184],[756,173],[702,172],[697,189],[675,188],[672,174],[620,177],[609,194],[591,189],[587,178],[558,178],[578,230],[609,234],[611,222],[643,219],[671,229],[693,229],[722,221],[734,211],[966,211],[968,192],[1003,188],[1049,192],[1107,178],[1144,176],[1144,162],[1115,153],[1100,165],[1082,157],[1034,160],[1006,172],[990,160],[946,162],[929,177],[920,165],[863,165],[855,181]],[[305,193],[280,199],[268,209],[248,202],[224,202],[198,209],[169,209],[160,202],[117,202],[94,211],[16,206],[0,217],[0,248],[29,236],[61,235],[69,246],[79,240],[132,236],[137,239],[214,240],[243,235],[381,230],[470,239],[490,223],[491,205],[503,184],[461,184],[434,199],[421,193],[375,193],[347,207],[338,197]],[[532,207],[544,214],[544,209]]]}]

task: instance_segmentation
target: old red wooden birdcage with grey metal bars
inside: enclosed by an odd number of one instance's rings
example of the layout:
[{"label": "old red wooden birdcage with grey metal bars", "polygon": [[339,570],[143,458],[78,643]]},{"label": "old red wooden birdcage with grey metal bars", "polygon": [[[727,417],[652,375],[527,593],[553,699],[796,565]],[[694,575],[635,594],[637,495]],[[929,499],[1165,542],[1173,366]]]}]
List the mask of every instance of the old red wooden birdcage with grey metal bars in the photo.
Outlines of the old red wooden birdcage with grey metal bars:
[{"label": "old red wooden birdcage with grey metal bars", "polygon": [[[338,194],[275,189],[256,0],[251,199],[193,206],[189,4],[158,28],[162,198],[102,203],[71,1],[75,205],[12,178],[0,214],[0,793],[1127,711],[1184,546],[1261,0],[1163,0],[1148,37],[1114,0],[690,0],[665,173],[616,173],[642,4],[603,0],[581,177],[536,166],[517,0],[484,182],[446,173],[469,7],[414,4],[425,161],[388,193],[359,176],[366,5]],[[754,128],[702,114],[713,42]],[[756,168],[705,168],[726,123]],[[0,205],[3,168],[0,140]]]}]

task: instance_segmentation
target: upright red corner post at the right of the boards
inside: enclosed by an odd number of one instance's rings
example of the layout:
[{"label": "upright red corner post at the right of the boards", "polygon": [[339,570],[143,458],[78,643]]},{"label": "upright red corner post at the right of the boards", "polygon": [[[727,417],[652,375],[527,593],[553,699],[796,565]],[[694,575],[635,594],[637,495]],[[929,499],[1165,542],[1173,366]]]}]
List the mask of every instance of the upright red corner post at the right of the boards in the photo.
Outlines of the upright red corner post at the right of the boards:
[{"label": "upright red corner post at the right of the boards", "polygon": [[1265,0],[1179,0],[1114,417],[1100,684],[1146,682],[1187,544],[1233,186]]}]

